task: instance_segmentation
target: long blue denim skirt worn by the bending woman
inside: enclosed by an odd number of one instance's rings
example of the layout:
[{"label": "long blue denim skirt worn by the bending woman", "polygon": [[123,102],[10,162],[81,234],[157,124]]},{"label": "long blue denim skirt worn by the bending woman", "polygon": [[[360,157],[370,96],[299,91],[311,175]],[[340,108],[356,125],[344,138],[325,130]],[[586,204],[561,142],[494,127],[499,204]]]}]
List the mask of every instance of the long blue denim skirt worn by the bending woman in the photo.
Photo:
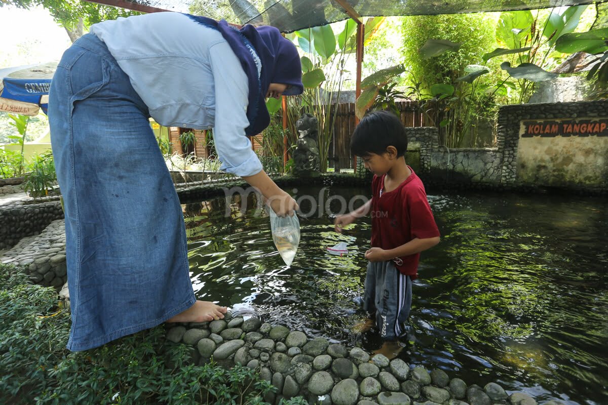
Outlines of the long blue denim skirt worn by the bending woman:
[{"label": "long blue denim skirt worn by the bending woman", "polygon": [[196,301],[181,205],[148,118],[97,36],[66,50],[49,123],[66,217],[69,350],[154,327]]}]

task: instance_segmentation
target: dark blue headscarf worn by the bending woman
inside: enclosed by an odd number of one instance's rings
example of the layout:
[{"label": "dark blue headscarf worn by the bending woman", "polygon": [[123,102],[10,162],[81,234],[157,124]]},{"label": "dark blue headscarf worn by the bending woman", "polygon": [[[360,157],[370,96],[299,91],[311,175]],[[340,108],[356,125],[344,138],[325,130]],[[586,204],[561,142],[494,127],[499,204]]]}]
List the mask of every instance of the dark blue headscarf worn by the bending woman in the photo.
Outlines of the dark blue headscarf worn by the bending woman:
[{"label": "dark blue headscarf worn by the bending woman", "polygon": [[[302,65],[297,49],[289,39],[283,38],[275,27],[257,27],[247,24],[240,30],[230,26],[226,20],[215,21],[202,16],[186,14],[194,21],[218,30],[232,48],[249,80],[249,105],[245,129],[247,136],[257,135],[268,127],[270,115],[266,109],[266,93],[271,83],[288,84],[284,95],[302,94]],[[254,56],[247,45],[254,47],[260,58],[262,69],[258,77]]]}]

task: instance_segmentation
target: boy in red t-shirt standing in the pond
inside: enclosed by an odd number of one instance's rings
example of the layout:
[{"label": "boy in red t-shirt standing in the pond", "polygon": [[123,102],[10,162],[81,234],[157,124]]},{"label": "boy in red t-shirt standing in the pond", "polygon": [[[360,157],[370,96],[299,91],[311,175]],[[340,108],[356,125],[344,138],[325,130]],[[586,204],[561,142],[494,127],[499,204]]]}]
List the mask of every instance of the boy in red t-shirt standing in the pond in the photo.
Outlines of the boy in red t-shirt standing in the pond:
[{"label": "boy in red t-shirt standing in the pond", "polygon": [[385,347],[395,346],[410,313],[420,252],[437,245],[440,234],[424,185],[406,164],[407,135],[395,115],[386,111],[366,115],[354,130],[350,148],[374,173],[373,194],[361,208],[338,216],[334,224],[341,233],[345,225],[371,215],[364,309],[375,314]]}]

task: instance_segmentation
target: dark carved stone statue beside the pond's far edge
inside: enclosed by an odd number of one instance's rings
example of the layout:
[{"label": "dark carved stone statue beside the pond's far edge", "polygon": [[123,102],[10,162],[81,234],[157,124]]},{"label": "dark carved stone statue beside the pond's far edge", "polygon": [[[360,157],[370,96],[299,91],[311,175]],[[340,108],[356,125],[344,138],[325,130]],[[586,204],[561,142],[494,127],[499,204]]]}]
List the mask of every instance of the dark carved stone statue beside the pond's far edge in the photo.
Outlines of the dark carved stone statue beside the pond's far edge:
[{"label": "dark carved stone statue beside the pond's far edge", "polygon": [[294,174],[314,175],[319,173],[319,121],[314,115],[302,114],[295,122],[298,131],[298,143],[293,153]]}]

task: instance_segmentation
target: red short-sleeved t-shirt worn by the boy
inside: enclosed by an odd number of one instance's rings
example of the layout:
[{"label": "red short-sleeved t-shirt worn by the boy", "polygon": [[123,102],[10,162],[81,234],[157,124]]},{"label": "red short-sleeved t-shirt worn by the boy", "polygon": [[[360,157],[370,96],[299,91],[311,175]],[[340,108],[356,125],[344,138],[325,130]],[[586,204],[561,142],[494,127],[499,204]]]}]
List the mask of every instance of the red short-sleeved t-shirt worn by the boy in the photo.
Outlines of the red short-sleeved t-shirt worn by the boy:
[{"label": "red short-sleeved t-shirt worn by the boy", "polygon": [[[385,192],[383,189],[384,175],[374,175],[371,182],[373,194],[370,212],[372,247],[394,249],[415,238],[440,236],[426,199],[424,185],[413,170],[393,191]],[[393,262],[401,274],[407,274],[415,280],[418,276],[418,260],[420,253],[399,257],[393,259]]]}]

